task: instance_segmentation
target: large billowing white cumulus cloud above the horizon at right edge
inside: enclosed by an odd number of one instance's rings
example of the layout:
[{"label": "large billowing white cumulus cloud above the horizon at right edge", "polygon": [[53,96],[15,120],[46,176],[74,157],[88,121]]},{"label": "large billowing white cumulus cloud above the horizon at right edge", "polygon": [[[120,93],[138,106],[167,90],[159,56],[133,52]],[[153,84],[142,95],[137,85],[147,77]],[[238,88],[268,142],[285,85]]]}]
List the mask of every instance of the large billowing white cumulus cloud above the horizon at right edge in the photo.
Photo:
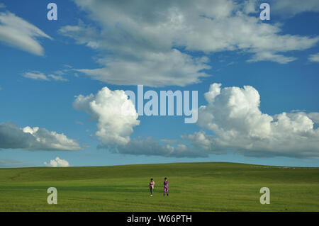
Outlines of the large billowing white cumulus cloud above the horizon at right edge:
[{"label": "large billowing white cumulus cloud above the horizon at right edge", "polygon": [[[207,106],[198,109],[198,125],[211,130],[186,136],[211,153],[227,151],[252,156],[319,157],[318,113],[267,115],[259,109],[260,96],[252,86],[212,84],[205,94]],[[312,120],[313,119],[313,120]]]}]

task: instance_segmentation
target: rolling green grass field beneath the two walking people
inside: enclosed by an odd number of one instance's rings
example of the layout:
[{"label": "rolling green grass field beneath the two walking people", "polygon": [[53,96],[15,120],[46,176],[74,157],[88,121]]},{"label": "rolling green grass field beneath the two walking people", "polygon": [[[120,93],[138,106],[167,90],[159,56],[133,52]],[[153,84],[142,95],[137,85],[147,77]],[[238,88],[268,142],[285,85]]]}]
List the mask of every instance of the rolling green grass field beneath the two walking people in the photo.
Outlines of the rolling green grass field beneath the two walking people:
[{"label": "rolling green grass field beneath the two walking people", "polygon": [[[162,194],[165,176],[169,197]],[[47,204],[49,187],[57,188],[57,205]],[[259,203],[262,187],[270,189],[269,205]],[[319,211],[319,168],[212,162],[0,169],[0,211]]]}]

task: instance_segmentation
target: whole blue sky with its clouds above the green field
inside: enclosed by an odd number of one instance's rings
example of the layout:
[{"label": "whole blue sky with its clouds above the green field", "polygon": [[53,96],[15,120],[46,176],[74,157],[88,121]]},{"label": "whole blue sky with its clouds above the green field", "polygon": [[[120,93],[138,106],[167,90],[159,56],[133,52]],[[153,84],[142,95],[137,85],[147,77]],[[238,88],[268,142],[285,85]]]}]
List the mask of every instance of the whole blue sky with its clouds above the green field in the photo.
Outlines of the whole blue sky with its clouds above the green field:
[{"label": "whole blue sky with its clouds above the green field", "polygon": [[[270,21],[260,1],[54,2],[57,21],[50,1],[0,1],[0,167],[319,166],[318,2],[267,1]],[[137,84],[206,108],[194,124],[113,114]]]}]

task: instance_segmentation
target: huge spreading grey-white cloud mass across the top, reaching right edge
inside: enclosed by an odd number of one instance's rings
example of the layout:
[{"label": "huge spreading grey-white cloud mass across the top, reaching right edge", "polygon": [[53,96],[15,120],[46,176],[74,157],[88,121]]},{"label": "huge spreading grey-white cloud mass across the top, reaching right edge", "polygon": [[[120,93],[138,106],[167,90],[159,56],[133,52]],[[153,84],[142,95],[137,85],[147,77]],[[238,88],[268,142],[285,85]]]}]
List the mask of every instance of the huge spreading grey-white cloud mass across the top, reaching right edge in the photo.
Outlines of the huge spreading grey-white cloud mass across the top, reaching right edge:
[{"label": "huge spreading grey-white cloud mass across the top, reaching right edge", "polygon": [[185,86],[207,76],[206,56],[213,52],[249,52],[251,62],[286,64],[296,60],[286,52],[319,40],[262,23],[250,14],[259,11],[256,1],[125,1],[125,7],[118,1],[75,2],[96,26],[80,21],[60,33],[99,51],[101,67],[78,71],[110,84]]}]

